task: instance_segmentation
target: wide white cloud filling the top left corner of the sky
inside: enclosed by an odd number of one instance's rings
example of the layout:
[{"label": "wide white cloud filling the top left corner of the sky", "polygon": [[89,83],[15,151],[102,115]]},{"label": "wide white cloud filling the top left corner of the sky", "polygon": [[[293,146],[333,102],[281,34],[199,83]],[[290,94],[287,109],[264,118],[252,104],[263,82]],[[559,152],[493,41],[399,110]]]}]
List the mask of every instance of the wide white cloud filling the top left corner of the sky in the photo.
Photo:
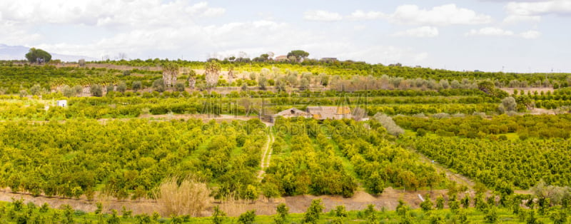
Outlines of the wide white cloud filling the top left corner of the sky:
[{"label": "wide white cloud filling the top left corner of the sky", "polygon": [[0,1],[2,19],[23,25],[165,26],[220,16],[225,11],[209,7],[206,2],[190,4],[183,0]]}]

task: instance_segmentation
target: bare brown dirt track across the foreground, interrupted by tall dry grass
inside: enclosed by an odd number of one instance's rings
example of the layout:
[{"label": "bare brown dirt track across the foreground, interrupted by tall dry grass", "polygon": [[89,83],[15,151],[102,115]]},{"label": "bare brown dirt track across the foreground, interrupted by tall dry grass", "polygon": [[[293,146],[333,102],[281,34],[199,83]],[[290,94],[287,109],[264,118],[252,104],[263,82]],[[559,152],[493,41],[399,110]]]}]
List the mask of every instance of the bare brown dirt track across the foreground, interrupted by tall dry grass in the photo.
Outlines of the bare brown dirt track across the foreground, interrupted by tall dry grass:
[{"label": "bare brown dirt track across the foreground, interrupted by tall dry grass", "polygon": [[[343,198],[339,195],[297,195],[283,198],[274,198],[271,201],[260,196],[255,202],[251,201],[236,201],[232,203],[220,203],[213,200],[213,203],[204,210],[200,216],[210,216],[213,207],[221,205],[221,208],[230,216],[238,216],[248,210],[256,210],[257,215],[273,215],[276,214],[276,206],[279,203],[285,203],[290,208],[290,213],[305,213],[305,210],[311,204],[311,200],[320,198],[325,205],[325,212],[335,209],[337,205],[344,205],[347,210],[363,210],[367,205],[375,205],[375,208],[380,210],[385,208],[387,210],[395,210],[398,205],[398,200],[402,199],[412,208],[419,208],[422,202],[418,195],[426,195],[429,190],[403,190],[385,188],[380,195],[370,195],[363,190],[355,192],[351,198]],[[446,190],[433,190],[431,198],[435,201],[438,195],[445,195]],[[96,200],[89,201],[85,197],[80,199],[69,198],[47,198],[45,196],[33,197],[29,194],[23,193],[10,193],[9,190],[0,190],[0,200],[11,201],[11,198],[23,199],[24,203],[34,203],[38,206],[43,203],[48,203],[51,208],[60,208],[61,205],[70,205],[74,210],[83,210],[86,212],[94,212],[96,210],[96,203],[103,204],[103,210],[108,213],[111,209],[120,211],[123,206],[129,210],[133,210],[133,215],[141,213],[152,214],[155,211],[160,211],[161,206],[154,200],[115,200],[112,198],[96,198]]]}]

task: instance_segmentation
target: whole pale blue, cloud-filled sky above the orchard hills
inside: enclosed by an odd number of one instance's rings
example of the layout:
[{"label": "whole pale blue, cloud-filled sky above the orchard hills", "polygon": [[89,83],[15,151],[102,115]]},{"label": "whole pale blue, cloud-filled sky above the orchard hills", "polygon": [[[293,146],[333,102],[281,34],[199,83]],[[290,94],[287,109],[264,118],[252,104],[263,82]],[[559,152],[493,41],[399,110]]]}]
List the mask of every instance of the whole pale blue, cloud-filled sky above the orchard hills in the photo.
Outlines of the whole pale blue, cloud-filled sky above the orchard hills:
[{"label": "whole pale blue, cloud-filled sky above the orchard hills", "polygon": [[571,0],[0,0],[0,44],[100,59],[302,49],[385,65],[571,72]]}]

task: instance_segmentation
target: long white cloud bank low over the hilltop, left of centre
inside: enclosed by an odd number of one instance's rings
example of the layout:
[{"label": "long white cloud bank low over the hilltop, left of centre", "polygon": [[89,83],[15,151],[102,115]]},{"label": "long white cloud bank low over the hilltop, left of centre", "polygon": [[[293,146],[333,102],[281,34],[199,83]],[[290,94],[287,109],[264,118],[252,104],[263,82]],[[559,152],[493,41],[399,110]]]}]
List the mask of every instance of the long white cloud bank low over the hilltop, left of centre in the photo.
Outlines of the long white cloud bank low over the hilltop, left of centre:
[{"label": "long white cloud bank low over the hilltop, left of centre", "polygon": [[[291,35],[296,34],[296,35]],[[260,36],[264,36],[260,39]],[[223,25],[166,26],[156,29],[135,29],[123,31],[108,38],[82,44],[39,44],[41,49],[60,54],[86,55],[101,58],[103,55],[116,55],[125,52],[133,58],[165,57],[181,55],[181,52],[234,51],[235,49],[274,50],[276,43],[289,48],[305,41],[320,42],[326,36],[309,34],[288,24],[274,21],[233,22]],[[1,41],[1,39],[0,39]],[[268,46],[272,46],[268,47]],[[289,49],[290,50],[290,49]],[[283,50],[285,51],[285,49]],[[161,55],[161,52],[165,55]],[[238,52],[238,51],[236,51]],[[174,54],[173,54],[174,53]],[[190,57],[185,56],[186,59]],[[204,60],[206,57],[191,58]]]}]

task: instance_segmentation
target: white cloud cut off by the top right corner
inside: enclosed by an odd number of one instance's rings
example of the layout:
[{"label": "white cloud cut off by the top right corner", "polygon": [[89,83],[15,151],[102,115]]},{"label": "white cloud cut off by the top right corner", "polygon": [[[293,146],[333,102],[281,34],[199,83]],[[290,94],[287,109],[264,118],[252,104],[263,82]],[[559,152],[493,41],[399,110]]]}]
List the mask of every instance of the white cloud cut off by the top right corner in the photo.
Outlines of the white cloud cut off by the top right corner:
[{"label": "white cloud cut off by the top right corner", "polygon": [[551,0],[537,2],[515,2],[512,1],[505,6],[510,15],[537,16],[545,14],[559,14],[571,16],[571,1]]}]

